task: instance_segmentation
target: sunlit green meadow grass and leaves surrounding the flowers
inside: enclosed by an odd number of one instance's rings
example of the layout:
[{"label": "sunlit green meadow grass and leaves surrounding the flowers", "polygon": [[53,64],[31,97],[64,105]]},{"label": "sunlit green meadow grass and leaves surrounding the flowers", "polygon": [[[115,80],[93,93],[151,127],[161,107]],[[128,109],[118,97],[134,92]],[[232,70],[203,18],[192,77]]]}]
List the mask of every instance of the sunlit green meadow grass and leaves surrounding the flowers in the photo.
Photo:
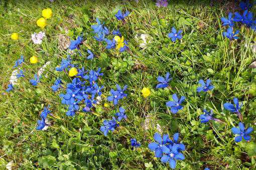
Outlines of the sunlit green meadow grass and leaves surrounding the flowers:
[{"label": "sunlit green meadow grass and leaves surrounding the flowers", "polygon": [[[243,102],[245,126],[256,129],[256,71],[248,67],[255,59],[251,50],[255,32],[236,26],[241,29],[240,38],[230,42],[221,36],[225,28],[220,17],[228,12],[225,4],[215,2],[210,6],[207,0],[180,1],[172,0],[167,8],[157,8],[151,0],[140,0],[139,4],[133,0],[1,1],[0,167],[13,160],[13,167],[20,169],[168,169],[169,165],[154,158],[148,149],[157,132],[156,126],[143,128],[146,116],[150,115],[152,122],[160,124],[163,134],[172,136],[180,132],[186,150],[185,160],[177,161],[177,169],[255,169],[255,132],[251,133],[250,142],[235,143],[231,127],[237,126],[239,119],[223,107],[223,103],[238,97]],[[53,10],[43,30],[47,38],[41,45],[35,45],[31,34],[41,31],[36,20],[46,7]],[[131,11],[126,24],[114,17],[118,9]],[[110,30],[119,28],[129,40],[131,50],[118,53],[104,49],[93,38],[90,28],[96,17]],[[172,26],[183,30],[183,39],[175,43],[167,37]],[[13,32],[19,33],[19,40],[10,38]],[[106,98],[102,97],[94,113],[78,111],[74,117],[67,117],[59,97],[64,90],[51,90],[57,77],[64,84],[70,82],[64,72],[55,70],[67,55],[66,50],[58,48],[58,37],[68,34],[75,39],[81,32],[85,37],[80,50],[82,56],[72,55],[73,63],[86,69],[102,68],[103,96],[108,96],[118,83],[129,86],[128,97],[116,107],[111,103],[104,107]],[[146,49],[141,49],[135,39],[142,32],[152,37]],[[88,47],[98,58],[86,59]],[[25,77],[19,79],[14,91],[7,93],[13,65],[22,54]],[[39,56],[40,62],[30,64],[32,55]],[[41,83],[32,86],[29,79],[47,61],[51,64],[44,71]],[[125,71],[120,72],[120,68]],[[167,71],[173,77],[171,88],[156,89],[157,76]],[[210,93],[197,93],[198,80],[207,78],[215,88]],[[143,87],[151,88],[151,95],[146,99],[141,94]],[[184,109],[177,114],[168,112],[165,104],[173,93],[186,96]],[[37,131],[36,121],[48,104],[55,115],[49,116],[51,126],[46,131]],[[99,131],[100,125],[119,106],[126,109],[128,119],[105,137]],[[215,117],[226,124],[200,123],[203,108],[213,109]],[[142,146],[132,150],[130,138],[137,138]]]}]

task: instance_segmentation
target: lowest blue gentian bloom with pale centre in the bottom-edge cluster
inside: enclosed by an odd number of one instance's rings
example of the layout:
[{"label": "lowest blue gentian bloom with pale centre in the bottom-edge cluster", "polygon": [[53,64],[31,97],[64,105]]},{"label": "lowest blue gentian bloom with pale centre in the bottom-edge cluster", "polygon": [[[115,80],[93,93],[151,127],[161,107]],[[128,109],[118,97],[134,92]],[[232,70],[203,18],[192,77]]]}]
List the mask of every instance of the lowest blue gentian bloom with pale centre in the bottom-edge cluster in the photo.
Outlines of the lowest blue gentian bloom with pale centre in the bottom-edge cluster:
[{"label": "lowest blue gentian bloom with pale centre in the bottom-edge cluster", "polygon": [[171,168],[176,168],[176,160],[184,160],[185,156],[178,151],[179,144],[174,143],[172,146],[169,146],[169,150],[161,157],[163,163],[169,161],[169,166]]}]

